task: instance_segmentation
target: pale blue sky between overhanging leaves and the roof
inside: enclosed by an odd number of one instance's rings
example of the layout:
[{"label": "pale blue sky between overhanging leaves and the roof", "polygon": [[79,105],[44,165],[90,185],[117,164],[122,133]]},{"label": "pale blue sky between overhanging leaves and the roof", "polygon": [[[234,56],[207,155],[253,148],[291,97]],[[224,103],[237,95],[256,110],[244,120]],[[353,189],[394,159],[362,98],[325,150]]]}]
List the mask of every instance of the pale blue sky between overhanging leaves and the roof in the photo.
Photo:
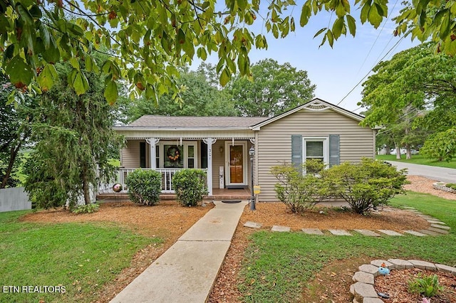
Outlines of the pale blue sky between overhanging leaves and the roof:
[{"label": "pale blue sky between overhanging leaves and the roof", "polygon": [[[397,16],[399,6],[399,1],[390,3],[388,14]],[[359,11],[352,11],[352,16],[359,16]],[[266,35],[268,48],[252,48],[249,58],[251,64],[271,58],[280,64],[290,63],[298,70],[306,70],[311,83],[316,85],[315,97],[359,113],[363,110],[357,105],[362,98],[361,83],[367,79],[366,75],[372,74],[371,69],[380,60],[388,60],[395,53],[417,46],[419,42],[411,41],[410,37],[394,37],[395,23],[388,18],[377,29],[369,23],[361,25],[358,22],[355,38],[348,34],[334,41],[333,48],[328,43],[318,48],[323,36],[314,38],[315,33],[327,27],[330,18],[330,14],[322,11],[312,16],[309,23],[301,28],[299,14],[296,14],[296,31],[279,39],[258,26],[259,29],[254,28],[253,31]],[[209,59],[209,62],[217,64],[216,58]]]}]

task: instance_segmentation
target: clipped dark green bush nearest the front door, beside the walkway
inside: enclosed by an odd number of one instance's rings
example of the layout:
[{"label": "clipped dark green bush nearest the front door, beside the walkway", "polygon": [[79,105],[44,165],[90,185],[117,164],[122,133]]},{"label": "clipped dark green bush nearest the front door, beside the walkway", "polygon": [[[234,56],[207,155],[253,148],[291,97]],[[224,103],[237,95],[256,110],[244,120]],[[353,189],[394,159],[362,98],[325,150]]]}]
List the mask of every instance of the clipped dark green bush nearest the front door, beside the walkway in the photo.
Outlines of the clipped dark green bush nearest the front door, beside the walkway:
[{"label": "clipped dark green bush nearest the front door, beside the walkway", "polygon": [[177,201],[183,206],[196,206],[207,195],[206,172],[200,169],[183,169],[172,176]]}]

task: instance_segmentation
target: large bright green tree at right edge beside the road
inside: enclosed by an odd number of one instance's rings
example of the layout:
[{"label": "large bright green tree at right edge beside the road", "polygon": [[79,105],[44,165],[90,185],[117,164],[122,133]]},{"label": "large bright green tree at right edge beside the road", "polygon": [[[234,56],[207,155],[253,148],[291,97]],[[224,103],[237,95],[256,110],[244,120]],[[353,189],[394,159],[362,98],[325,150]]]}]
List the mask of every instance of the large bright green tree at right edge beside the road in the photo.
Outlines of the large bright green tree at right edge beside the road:
[{"label": "large bright green tree at right edge beside the road", "polygon": [[[456,121],[456,59],[435,55],[430,44],[404,50],[379,63],[363,83],[368,107],[364,125],[383,125],[402,132],[396,147],[423,144],[423,137],[446,130]],[[397,153],[398,156],[398,153]]]}]

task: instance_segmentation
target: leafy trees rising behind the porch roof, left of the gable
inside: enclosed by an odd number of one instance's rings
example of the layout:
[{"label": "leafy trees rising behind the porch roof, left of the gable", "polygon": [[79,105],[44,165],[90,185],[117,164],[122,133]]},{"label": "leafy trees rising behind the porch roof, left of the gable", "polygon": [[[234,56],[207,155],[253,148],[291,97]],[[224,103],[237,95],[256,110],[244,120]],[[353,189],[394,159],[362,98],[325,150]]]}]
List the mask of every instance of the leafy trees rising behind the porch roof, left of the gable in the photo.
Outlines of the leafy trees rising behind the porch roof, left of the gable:
[{"label": "leafy trees rising behind the porch roof, left of the gable", "polygon": [[[184,69],[177,84],[182,86],[182,102],[172,100],[172,95],[162,95],[158,102],[141,97],[126,104],[128,122],[142,115],[167,116],[233,116],[236,115],[234,104],[228,92],[219,90],[211,83],[214,68],[209,65],[200,66],[197,71]],[[124,103],[125,104],[125,103]]]}]

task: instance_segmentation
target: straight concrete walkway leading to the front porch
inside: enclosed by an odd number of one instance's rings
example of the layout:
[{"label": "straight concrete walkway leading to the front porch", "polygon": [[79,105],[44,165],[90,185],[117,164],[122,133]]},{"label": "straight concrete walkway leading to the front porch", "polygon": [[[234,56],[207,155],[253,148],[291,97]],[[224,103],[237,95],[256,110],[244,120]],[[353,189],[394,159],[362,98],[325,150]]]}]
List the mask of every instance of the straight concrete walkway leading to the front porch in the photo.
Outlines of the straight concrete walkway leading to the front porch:
[{"label": "straight concrete walkway leading to the front porch", "polygon": [[214,208],[110,302],[205,302],[246,205],[215,201]]}]

